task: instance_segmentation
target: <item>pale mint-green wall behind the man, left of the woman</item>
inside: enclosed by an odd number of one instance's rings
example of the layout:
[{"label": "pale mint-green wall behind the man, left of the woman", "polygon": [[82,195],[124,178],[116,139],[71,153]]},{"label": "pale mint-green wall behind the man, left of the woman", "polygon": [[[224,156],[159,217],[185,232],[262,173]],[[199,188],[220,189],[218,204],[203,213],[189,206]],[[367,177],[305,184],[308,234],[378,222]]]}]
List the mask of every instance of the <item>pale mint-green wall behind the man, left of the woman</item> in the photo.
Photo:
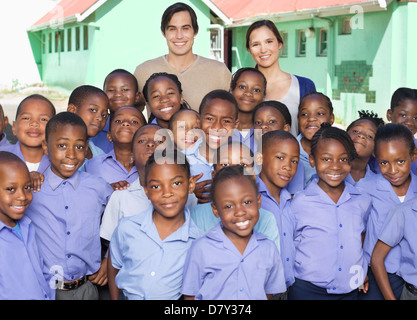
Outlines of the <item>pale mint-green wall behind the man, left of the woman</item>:
[{"label": "pale mint-green wall behind the man, left of the woman", "polygon": [[[46,85],[62,87],[68,91],[82,84],[101,88],[104,78],[112,70],[123,68],[133,73],[141,62],[166,54],[166,41],[160,31],[161,16],[175,2],[177,1],[109,0],[82,23],[65,25],[65,32],[68,28],[72,29],[72,51],[68,52],[65,47],[64,52],[54,52],[53,36],[52,53],[49,53],[46,37],[46,53],[41,54],[42,81]],[[184,2],[194,8],[198,18],[200,31],[195,38],[193,51],[208,57],[210,11],[201,1]],[[75,27],[82,28],[83,25],[88,25],[89,48],[84,50],[81,46],[79,51],[75,51]],[[37,34],[42,39],[42,33],[47,36],[57,30],[45,29]]]}]

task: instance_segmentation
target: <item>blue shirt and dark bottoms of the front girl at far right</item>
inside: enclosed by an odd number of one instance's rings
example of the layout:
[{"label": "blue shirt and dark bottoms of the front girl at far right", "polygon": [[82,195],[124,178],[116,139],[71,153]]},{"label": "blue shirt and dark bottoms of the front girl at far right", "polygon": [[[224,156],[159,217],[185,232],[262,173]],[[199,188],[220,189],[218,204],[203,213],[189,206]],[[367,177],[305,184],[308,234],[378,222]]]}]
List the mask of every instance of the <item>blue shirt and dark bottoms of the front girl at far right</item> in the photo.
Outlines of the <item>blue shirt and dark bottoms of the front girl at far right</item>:
[{"label": "blue shirt and dark bottoms of the front girl at far right", "polygon": [[[363,189],[372,197],[372,211],[368,217],[366,226],[366,236],[363,249],[368,264],[371,261],[372,251],[385,224],[388,212],[391,208],[401,204],[397,194],[390,182],[382,174],[376,174],[373,179],[368,180],[363,185]],[[411,183],[408,187],[404,202],[417,197],[417,176],[411,174]],[[399,247],[392,248],[385,258],[385,268],[394,291],[394,295],[399,299],[402,290],[402,281],[396,275],[400,266]],[[383,299],[372,270],[369,268],[369,290],[361,295],[361,299]]]}]

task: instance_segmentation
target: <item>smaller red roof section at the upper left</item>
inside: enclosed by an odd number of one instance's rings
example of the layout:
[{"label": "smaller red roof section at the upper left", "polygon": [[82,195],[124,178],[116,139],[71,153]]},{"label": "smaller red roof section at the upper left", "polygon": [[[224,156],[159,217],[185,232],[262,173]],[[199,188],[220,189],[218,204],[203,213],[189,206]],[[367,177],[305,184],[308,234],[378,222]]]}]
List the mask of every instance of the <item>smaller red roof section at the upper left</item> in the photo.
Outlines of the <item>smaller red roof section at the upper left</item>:
[{"label": "smaller red roof section at the upper left", "polygon": [[45,29],[60,23],[81,22],[106,0],[61,0],[52,10],[36,21],[30,31]]}]

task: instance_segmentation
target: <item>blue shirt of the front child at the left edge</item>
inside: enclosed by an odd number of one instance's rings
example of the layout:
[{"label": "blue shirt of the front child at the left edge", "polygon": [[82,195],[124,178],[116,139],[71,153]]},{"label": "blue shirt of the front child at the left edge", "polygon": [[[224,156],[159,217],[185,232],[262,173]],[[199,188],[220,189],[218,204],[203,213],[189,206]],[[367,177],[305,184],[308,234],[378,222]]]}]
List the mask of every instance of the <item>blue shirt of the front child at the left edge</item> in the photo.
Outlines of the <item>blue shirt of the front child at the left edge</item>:
[{"label": "blue shirt of the front child at the left edge", "polygon": [[54,299],[43,276],[35,229],[23,216],[17,228],[0,221],[0,300]]}]

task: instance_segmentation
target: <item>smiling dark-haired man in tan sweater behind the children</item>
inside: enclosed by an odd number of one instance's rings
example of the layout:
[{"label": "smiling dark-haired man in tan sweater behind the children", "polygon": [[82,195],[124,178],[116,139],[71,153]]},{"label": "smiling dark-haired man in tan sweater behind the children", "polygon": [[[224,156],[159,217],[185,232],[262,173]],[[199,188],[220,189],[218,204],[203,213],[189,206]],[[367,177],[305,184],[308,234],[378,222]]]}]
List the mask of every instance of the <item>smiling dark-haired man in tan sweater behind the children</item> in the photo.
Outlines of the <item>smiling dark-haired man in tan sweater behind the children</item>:
[{"label": "smiling dark-haired man in tan sweater behind the children", "polygon": [[229,90],[231,73],[226,65],[193,53],[198,24],[197,16],[189,5],[177,2],[169,6],[162,15],[161,31],[167,42],[168,54],[136,67],[134,74],[141,91],[154,72],[175,74],[182,84],[184,100],[198,111],[201,100],[208,92]]}]

